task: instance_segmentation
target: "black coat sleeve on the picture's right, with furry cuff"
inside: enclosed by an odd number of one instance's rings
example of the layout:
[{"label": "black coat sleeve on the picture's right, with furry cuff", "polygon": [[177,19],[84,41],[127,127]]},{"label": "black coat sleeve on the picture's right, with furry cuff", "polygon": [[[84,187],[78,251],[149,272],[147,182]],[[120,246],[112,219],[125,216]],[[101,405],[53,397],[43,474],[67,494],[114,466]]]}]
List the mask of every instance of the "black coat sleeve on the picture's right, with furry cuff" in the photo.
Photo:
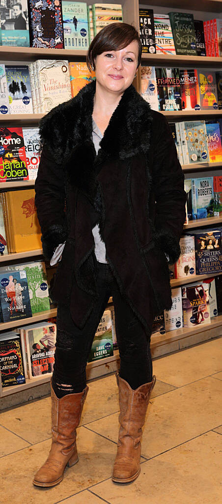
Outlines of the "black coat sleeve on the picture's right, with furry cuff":
[{"label": "black coat sleeve on the picture's right, with furry cuff", "polygon": [[180,257],[180,237],[186,217],[184,174],[177,157],[171,129],[158,113],[153,136],[153,191],[156,200],[154,240],[174,264]]}]

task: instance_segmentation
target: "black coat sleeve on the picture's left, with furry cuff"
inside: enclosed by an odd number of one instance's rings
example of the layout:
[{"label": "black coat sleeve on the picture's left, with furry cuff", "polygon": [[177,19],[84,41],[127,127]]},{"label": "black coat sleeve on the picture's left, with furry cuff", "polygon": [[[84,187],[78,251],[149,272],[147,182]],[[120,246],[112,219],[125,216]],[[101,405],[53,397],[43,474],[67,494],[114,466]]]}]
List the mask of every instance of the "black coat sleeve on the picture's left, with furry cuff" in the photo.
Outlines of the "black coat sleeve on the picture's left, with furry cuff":
[{"label": "black coat sleeve on the picture's left, with furry cuff", "polygon": [[44,143],[35,181],[35,205],[42,231],[44,257],[50,260],[53,250],[67,236],[65,219],[64,171],[56,163],[47,142]]}]

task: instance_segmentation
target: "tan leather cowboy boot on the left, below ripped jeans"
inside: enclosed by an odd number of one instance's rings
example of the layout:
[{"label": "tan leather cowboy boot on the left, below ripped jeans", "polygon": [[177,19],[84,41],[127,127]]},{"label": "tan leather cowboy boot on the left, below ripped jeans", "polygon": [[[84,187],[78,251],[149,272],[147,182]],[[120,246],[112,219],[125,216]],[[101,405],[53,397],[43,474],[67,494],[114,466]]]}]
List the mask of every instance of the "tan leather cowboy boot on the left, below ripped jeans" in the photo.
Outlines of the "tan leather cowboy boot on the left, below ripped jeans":
[{"label": "tan leather cowboy boot on the left, below ripped jeans", "polygon": [[49,456],[36,473],[36,486],[54,486],[63,478],[65,466],[73,466],[79,460],[76,437],[84,401],[89,387],[79,394],[67,394],[58,399],[51,386],[52,445]]}]

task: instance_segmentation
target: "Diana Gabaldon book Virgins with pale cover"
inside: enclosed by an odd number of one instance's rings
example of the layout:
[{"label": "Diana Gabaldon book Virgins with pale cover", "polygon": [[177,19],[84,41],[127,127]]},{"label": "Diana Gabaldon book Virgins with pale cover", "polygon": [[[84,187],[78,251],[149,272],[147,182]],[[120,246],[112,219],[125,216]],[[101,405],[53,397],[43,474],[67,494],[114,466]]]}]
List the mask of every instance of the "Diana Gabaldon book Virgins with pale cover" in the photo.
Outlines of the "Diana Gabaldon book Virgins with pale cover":
[{"label": "Diana Gabaldon book Virgins with pale cover", "polygon": [[181,255],[174,265],[175,278],[187,278],[196,274],[194,236],[180,238]]}]

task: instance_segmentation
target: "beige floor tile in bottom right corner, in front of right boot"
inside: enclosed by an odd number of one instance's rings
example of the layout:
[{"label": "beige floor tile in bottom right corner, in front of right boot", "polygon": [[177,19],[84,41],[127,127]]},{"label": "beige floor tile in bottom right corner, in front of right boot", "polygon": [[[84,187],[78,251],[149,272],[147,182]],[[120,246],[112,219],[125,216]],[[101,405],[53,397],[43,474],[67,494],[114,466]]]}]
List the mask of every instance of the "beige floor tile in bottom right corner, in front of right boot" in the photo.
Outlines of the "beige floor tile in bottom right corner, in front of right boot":
[{"label": "beige floor tile in bottom right corner, in front of right boot", "polygon": [[221,450],[221,436],[209,432],[144,462],[133,483],[109,479],[93,491],[111,504],[221,504]]}]

